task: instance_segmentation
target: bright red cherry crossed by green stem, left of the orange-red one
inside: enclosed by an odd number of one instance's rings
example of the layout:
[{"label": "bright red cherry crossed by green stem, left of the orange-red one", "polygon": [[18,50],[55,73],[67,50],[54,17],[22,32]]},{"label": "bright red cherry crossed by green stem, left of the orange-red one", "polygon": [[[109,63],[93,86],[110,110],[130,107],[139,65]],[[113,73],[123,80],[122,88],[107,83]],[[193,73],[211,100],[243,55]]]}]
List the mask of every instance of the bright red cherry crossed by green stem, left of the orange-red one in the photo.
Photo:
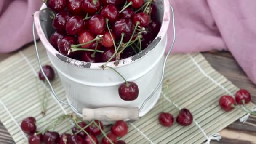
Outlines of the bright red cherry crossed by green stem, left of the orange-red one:
[{"label": "bright red cherry crossed by green stem, left of the orange-red one", "polygon": [[[93,35],[93,33],[91,33],[88,30],[83,30],[82,32],[80,32],[80,34],[78,35],[78,42],[80,44],[83,43],[88,43],[89,41],[93,40],[95,38],[95,36]],[[88,43],[86,45],[82,45],[82,48],[90,48],[93,45],[93,43]]]}]

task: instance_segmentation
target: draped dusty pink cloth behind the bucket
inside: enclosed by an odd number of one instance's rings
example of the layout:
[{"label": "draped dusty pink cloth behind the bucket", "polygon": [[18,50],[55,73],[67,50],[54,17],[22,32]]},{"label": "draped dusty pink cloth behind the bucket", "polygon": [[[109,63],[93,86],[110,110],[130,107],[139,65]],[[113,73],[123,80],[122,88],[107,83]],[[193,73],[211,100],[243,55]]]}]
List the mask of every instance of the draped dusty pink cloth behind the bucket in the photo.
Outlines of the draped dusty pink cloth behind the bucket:
[{"label": "draped dusty pink cloth behind the bucket", "polygon": [[[176,18],[172,53],[230,51],[256,83],[256,0],[170,0],[170,3]],[[40,5],[41,0],[0,0],[0,53],[15,51],[33,40],[31,14]]]}]

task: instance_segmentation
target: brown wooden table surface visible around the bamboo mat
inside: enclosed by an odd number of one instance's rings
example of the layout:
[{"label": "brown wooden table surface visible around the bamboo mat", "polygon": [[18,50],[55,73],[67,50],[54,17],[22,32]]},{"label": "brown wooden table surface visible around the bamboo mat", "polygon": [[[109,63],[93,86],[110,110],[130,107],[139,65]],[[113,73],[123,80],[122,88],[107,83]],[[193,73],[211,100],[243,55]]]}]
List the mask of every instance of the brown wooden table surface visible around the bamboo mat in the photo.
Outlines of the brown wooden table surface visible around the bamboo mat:
[{"label": "brown wooden table surface visible around the bamboo mat", "polygon": [[[0,61],[11,54],[0,54]],[[206,52],[203,55],[214,69],[237,87],[250,91],[253,96],[252,101],[256,104],[256,85],[248,79],[229,52]],[[221,141],[212,141],[211,144],[256,144],[256,116],[250,116],[245,124],[237,120],[220,133]],[[0,123],[0,144],[14,144],[2,123]]]}]

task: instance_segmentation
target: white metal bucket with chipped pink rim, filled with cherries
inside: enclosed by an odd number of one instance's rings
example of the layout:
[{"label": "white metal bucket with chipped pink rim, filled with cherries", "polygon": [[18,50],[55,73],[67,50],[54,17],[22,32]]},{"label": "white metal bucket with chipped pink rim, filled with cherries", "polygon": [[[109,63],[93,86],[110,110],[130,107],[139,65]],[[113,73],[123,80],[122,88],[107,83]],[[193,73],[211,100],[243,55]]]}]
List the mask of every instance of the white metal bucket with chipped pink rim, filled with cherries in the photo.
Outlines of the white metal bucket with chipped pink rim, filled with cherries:
[{"label": "white metal bucket with chipped pink rim, filled with cherries", "polygon": [[[128,81],[139,87],[139,96],[135,101],[123,101],[118,95],[118,87],[123,79],[111,69],[101,69],[104,63],[87,63],[63,56],[49,43],[52,32],[49,13],[34,13],[35,27],[41,42],[47,50],[53,67],[57,70],[61,83],[66,91],[68,101],[78,110],[100,107],[141,107],[143,102],[157,88],[162,77],[163,54],[167,45],[167,30],[170,22],[169,0],[156,3],[158,19],[162,26],[155,40],[144,51],[120,60],[114,67]],[[46,8],[42,5],[41,9]],[[140,110],[139,116],[145,115],[156,104],[160,97],[161,87]]]}]

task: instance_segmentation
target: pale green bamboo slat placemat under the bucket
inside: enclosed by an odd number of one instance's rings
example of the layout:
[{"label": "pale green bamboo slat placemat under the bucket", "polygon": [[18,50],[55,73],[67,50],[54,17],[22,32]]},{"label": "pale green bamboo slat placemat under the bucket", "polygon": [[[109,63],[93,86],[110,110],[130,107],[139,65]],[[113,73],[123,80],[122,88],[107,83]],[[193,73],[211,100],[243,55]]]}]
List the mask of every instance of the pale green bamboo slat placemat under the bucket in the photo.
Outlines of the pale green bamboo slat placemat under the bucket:
[{"label": "pale green bamboo slat placemat under the bucket", "polygon": [[[42,63],[50,64],[40,42],[38,47]],[[42,121],[72,113],[69,107],[54,99],[45,83],[38,80],[38,71],[33,45],[0,63],[0,120],[17,144],[27,143],[27,136],[19,126],[25,117],[33,116],[37,121]],[[147,115],[129,124],[129,133],[121,138],[128,144],[200,144],[245,115],[238,109],[232,112],[220,109],[219,97],[232,95],[238,88],[216,72],[200,53],[170,56],[165,69],[166,80],[169,80],[168,92],[161,96]],[[52,84],[60,99],[65,101],[65,92],[58,76]],[[48,98],[45,116],[41,115],[38,92]],[[162,105],[165,112],[171,112],[174,116],[178,114],[172,102],[192,112],[195,120],[192,125],[182,127],[174,123],[171,128],[166,128],[158,123]],[[252,109],[255,106],[250,103],[248,107]],[[45,123],[39,124],[38,130],[45,126]],[[56,127],[55,131],[64,133],[72,126],[67,121]]]}]

